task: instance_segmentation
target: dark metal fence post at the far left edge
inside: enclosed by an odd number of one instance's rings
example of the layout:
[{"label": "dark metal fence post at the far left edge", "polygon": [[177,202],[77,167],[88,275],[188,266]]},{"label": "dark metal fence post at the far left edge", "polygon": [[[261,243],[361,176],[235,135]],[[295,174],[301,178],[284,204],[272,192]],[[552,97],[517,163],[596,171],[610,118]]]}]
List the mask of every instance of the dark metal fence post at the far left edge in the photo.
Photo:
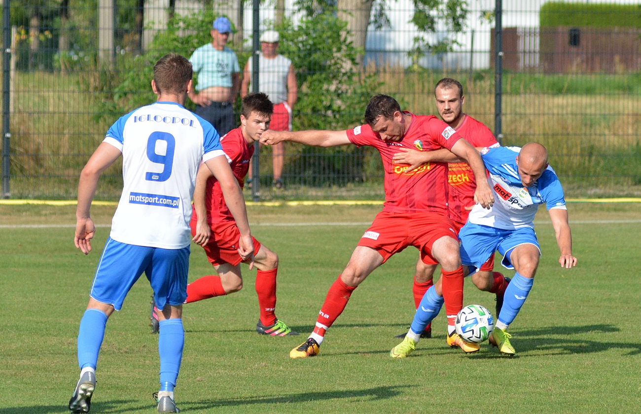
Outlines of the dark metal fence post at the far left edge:
[{"label": "dark metal fence post at the far left edge", "polygon": [[3,198],[8,199],[10,196],[9,177],[10,169],[10,151],[9,142],[11,132],[9,129],[10,121],[10,81],[11,81],[11,22],[10,22],[10,0],[3,1],[2,10],[2,38],[3,38],[3,70],[2,70],[2,190]]}]

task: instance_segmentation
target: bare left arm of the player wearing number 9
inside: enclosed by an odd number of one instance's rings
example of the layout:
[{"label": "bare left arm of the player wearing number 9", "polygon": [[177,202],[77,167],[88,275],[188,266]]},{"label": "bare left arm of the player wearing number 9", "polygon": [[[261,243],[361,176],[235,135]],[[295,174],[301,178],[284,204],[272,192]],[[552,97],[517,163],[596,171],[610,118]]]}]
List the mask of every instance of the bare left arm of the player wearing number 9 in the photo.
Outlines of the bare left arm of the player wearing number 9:
[{"label": "bare left arm of the player wearing number 9", "polygon": [[119,149],[103,142],[98,145],[80,173],[74,244],[82,253],[88,254],[91,251],[91,239],[94,238],[94,233],[96,233],[96,226],[94,226],[94,221],[90,217],[89,210],[96,194],[98,178],[120,155],[121,151]]}]

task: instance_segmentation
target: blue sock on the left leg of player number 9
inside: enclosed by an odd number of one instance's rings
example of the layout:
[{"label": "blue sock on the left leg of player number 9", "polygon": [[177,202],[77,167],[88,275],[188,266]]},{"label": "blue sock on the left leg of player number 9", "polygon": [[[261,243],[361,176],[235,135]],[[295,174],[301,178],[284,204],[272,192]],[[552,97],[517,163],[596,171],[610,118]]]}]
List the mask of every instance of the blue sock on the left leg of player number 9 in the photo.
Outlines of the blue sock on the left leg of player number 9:
[{"label": "blue sock on the left leg of player number 9", "polygon": [[107,315],[97,309],[88,309],[80,320],[78,329],[78,366],[96,369],[98,352],[103,345]]}]

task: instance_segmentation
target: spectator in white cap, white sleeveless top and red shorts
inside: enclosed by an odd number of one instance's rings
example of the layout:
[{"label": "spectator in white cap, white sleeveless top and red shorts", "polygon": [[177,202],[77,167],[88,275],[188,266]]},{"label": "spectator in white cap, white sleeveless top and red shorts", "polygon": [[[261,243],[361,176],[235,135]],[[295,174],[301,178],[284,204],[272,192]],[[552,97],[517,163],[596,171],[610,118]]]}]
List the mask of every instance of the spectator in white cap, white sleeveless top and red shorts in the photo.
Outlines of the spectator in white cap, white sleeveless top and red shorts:
[{"label": "spectator in white cap, white sleeveless top and red shorts", "polygon": [[[292,109],[298,99],[298,86],[292,61],[282,54],[278,54],[279,40],[278,31],[274,30],[266,30],[260,37],[261,53],[258,57],[258,92],[269,95],[269,99],[274,103],[274,113],[269,128],[274,131],[291,131]],[[247,61],[247,65],[245,65],[240,88],[241,97],[250,92],[251,61],[252,59],[250,58]],[[272,167],[274,171],[272,185],[276,188],[285,188],[282,178],[284,162],[285,145],[282,142],[272,145]],[[251,170],[249,170],[249,177],[251,177]]]}]

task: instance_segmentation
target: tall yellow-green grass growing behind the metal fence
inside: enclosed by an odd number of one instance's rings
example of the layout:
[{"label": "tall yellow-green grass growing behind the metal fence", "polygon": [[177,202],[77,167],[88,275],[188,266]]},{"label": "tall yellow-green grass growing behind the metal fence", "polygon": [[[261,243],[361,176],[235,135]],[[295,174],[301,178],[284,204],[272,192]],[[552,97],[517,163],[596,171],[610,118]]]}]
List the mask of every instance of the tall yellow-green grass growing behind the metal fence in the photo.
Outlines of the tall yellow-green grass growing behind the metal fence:
[{"label": "tall yellow-green grass growing behind the metal fence", "polygon": [[[376,73],[382,83],[372,95],[390,94],[403,108],[418,114],[436,113],[433,87],[438,79],[444,76],[459,79],[465,90],[465,112],[490,129],[495,128],[492,72],[410,71],[401,67],[368,67],[365,72]],[[98,108],[104,108],[104,104],[97,103],[113,98],[96,86],[97,76],[92,72],[15,73],[10,126],[13,197],[74,197],[79,170],[115,120],[99,116]],[[638,74],[505,74],[502,143],[522,145],[537,141],[546,145],[551,165],[576,195],[641,194],[639,80]],[[146,92],[131,91],[131,94]],[[363,112],[365,104],[356,110]],[[345,154],[351,158],[344,160],[337,154],[335,164],[339,172],[329,171],[331,176],[327,178],[304,178],[310,174],[304,165],[322,154],[322,150],[305,153],[301,146],[288,146],[285,174],[290,192],[268,190],[263,195],[269,199],[338,194],[358,199],[370,194],[365,187],[365,192],[359,193],[363,185],[380,185],[378,154],[367,150],[356,156]],[[355,163],[358,167],[354,170],[362,171],[362,177],[354,181],[340,169],[344,168],[341,165]],[[269,185],[271,151],[261,151],[261,165],[261,174]],[[106,172],[98,197],[115,199],[119,195],[119,170],[117,164]],[[352,187],[344,190],[350,182]],[[320,187],[326,191],[310,192],[310,183],[316,183],[315,186],[322,183]]]}]

